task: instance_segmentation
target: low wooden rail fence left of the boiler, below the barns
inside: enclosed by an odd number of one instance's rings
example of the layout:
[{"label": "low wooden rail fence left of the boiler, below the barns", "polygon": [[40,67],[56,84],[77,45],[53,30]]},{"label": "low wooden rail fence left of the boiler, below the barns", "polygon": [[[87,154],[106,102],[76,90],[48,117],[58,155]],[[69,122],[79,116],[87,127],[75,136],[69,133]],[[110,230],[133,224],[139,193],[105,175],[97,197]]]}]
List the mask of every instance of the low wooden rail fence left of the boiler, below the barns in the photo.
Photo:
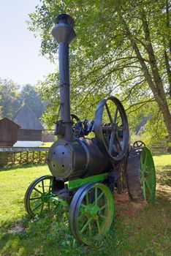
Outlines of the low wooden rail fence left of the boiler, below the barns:
[{"label": "low wooden rail fence left of the boiler, below the barns", "polygon": [[47,162],[49,148],[0,148],[0,167],[4,165],[39,164]]}]

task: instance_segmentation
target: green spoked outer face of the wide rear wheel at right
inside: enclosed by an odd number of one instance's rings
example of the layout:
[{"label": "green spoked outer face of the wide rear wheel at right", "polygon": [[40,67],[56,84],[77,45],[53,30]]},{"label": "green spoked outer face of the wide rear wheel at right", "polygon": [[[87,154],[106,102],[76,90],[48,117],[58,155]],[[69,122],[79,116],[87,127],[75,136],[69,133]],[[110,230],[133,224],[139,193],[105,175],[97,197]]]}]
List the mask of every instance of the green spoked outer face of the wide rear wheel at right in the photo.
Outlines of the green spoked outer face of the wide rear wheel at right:
[{"label": "green spoked outer face of the wide rear wheel at right", "polygon": [[156,193],[156,172],[153,157],[148,148],[144,148],[140,158],[140,181],[145,201],[153,203]]}]

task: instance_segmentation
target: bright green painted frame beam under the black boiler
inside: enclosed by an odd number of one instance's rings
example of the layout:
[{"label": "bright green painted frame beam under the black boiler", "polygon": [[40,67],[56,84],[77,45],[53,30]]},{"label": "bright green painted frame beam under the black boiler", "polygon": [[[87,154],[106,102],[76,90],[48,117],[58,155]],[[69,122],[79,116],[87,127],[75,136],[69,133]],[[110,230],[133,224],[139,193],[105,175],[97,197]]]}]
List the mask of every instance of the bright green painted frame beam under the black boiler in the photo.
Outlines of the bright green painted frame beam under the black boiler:
[{"label": "bright green painted frame beam under the black boiler", "polygon": [[89,176],[87,178],[77,178],[73,181],[66,181],[65,184],[67,184],[68,189],[75,189],[90,182],[104,181],[104,179],[106,179],[107,176],[108,173],[102,173],[99,175]]}]

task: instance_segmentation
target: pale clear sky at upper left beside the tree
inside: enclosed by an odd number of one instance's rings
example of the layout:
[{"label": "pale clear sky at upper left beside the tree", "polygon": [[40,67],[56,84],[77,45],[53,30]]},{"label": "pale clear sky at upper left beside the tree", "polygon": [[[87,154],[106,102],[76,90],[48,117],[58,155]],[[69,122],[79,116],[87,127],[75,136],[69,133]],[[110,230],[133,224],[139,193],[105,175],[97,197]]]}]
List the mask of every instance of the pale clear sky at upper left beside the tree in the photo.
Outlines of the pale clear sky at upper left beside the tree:
[{"label": "pale clear sky at upper left beside the tree", "polygon": [[40,39],[27,29],[28,13],[39,0],[0,0],[0,78],[20,85],[53,72],[54,64],[39,56]]}]

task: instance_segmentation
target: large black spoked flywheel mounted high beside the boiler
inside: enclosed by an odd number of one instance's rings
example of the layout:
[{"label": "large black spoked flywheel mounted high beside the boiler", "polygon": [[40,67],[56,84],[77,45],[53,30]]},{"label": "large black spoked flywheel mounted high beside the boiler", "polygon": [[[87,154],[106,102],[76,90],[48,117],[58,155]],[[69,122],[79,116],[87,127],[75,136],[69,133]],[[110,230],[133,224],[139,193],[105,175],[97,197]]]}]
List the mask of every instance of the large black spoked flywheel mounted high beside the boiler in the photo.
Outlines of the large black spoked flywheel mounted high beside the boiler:
[{"label": "large black spoked flywheel mounted high beside the boiler", "polygon": [[110,159],[121,160],[129,148],[129,125],[121,102],[102,99],[96,108],[94,132],[100,151]]}]

